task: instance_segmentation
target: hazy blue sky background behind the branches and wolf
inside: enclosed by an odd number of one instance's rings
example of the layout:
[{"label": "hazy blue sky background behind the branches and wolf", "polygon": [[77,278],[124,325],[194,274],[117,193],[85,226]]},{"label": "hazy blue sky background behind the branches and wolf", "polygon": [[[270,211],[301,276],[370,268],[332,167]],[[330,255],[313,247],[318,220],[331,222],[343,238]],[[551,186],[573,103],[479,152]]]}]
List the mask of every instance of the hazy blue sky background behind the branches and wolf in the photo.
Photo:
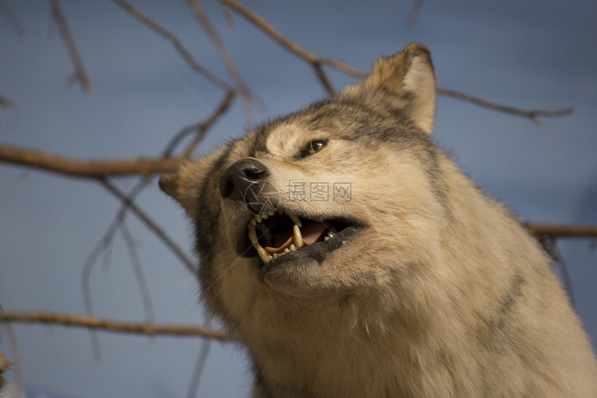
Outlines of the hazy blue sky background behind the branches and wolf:
[{"label": "hazy blue sky background behind the branches and wolf", "polygon": [[[208,69],[227,78],[217,52],[184,1],[132,1],[178,35]],[[222,93],[171,45],[109,1],[62,1],[94,85],[67,88],[72,65],[45,1],[6,1],[26,30],[18,38],[0,19],[0,144],[75,158],[157,156],[180,128],[205,119]],[[412,30],[411,1],[252,1],[251,8],[301,46],[369,69],[409,42],[432,51],[438,85],[520,108],[560,109],[568,117],[528,119],[439,97],[434,137],[464,171],[522,219],[597,224],[597,3],[594,1],[426,1]],[[218,3],[205,9],[264,102],[255,119],[280,115],[325,95],[312,69]],[[337,88],[355,78],[328,69]],[[188,90],[189,88],[190,90]],[[192,91],[192,92],[191,92]],[[199,101],[196,97],[199,97]],[[235,103],[198,154],[242,135]],[[127,190],[134,179],[115,183]],[[7,310],[83,313],[81,270],[119,203],[93,181],[0,164],[0,299]],[[138,203],[190,253],[183,212],[154,183]],[[135,236],[155,322],[202,324],[194,278],[135,217]],[[597,253],[590,240],[562,241],[577,310],[597,339]],[[118,235],[110,266],[92,273],[96,315],[142,322],[136,281]],[[201,347],[195,338],[99,333],[94,360],[88,333],[15,324],[28,395],[185,396]],[[10,356],[6,333],[1,349]],[[247,395],[251,374],[241,349],[213,343],[201,397]]]}]

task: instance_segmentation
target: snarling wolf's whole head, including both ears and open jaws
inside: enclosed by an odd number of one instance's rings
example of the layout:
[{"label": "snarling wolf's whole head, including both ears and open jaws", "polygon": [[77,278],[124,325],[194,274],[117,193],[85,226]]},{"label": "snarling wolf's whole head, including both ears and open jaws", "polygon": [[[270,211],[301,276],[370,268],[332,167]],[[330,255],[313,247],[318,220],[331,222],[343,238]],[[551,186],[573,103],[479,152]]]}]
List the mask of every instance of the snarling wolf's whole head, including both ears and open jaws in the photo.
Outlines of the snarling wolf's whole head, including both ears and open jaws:
[{"label": "snarling wolf's whole head, including both ears and open jaws", "polygon": [[194,222],[212,308],[379,289],[396,271],[388,253],[429,251],[433,231],[421,224],[444,213],[434,112],[430,53],[410,44],[339,96],[162,176]]}]

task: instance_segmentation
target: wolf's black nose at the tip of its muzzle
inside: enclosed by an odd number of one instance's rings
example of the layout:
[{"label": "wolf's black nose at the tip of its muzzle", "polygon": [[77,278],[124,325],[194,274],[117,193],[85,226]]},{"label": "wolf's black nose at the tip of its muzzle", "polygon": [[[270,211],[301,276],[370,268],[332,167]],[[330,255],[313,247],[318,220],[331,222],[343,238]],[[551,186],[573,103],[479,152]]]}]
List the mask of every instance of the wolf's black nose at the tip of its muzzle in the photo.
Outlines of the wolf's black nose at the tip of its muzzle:
[{"label": "wolf's black nose at the tip of its muzzle", "polygon": [[255,184],[264,184],[268,175],[267,167],[257,159],[237,160],[222,173],[220,194],[227,199],[246,201],[247,192],[253,192]]}]

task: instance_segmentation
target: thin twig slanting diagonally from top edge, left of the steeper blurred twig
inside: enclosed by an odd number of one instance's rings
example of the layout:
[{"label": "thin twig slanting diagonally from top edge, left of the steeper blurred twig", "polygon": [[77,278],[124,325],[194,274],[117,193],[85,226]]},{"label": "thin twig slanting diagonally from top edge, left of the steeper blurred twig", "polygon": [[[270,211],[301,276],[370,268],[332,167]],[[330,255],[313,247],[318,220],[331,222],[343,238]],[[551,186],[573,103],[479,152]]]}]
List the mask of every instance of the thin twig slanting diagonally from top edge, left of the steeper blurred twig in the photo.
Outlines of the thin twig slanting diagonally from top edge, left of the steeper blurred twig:
[{"label": "thin twig slanting diagonally from top edge, left of the steeper blurred twig", "polygon": [[228,83],[223,81],[221,78],[219,78],[215,74],[212,74],[212,72],[210,72],[208,69],[203,67],[203,65],[201,65],[199,62],[197,62],[195,60],[195,58],[193,58],[193,56],[191,55],[190,51],[187,50],[183,46],[183,44],[180,42],[180,39],[178,39],[176,37],[176,35],[167,31],[165,28],[160,26],[157,22],[153,21],[153,19],[151,19],[150,17],[148,17],[147,15],[142,13],[141,10],[131,6],[131,4],[127,3],[126,1],[124,1],[124,0],[112,0],[112,1],[117,3],[117,5],[120,6],[121,8],[123,8],[124,10],[126,10],[127,13],[133,15],[133,17],[139,19],[140,22],[142,22],[145,26],[149,27],[152,31],[154,31],[155,33],[158,33],[158,35],[162,36],[162,38],[165,38],[167,41],[169,41],[170,44],[172,44],[172,46],[174,47],[174,49],[176,49],[176,51],[180,54],[180,56],[183,57],[183,59],[187,62],[187,64],[195,72],[202,74],[205,78],[207,78],[209,81],[211,81],[212,83],[217,85],[222,90],[226,90],[226,91],[233,90],[233,87],[231,87]]}]

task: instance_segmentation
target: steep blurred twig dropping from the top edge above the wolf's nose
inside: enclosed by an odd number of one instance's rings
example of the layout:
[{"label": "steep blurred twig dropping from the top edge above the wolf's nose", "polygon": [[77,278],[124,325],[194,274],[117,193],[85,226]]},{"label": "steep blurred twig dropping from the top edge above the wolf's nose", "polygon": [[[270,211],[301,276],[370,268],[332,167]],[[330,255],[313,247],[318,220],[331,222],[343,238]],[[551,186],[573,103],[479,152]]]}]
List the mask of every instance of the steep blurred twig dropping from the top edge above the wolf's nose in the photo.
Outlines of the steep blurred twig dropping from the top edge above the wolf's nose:
[{"label": "steep blurred twig dropping from the top edge above the wolf's nose", "polygon": [[244,78],[242,77],[242,74],[240,73],[240,69],[238,69],[238,66],[234,60],[234,57],[232,56],[232,53],[230,53],[230,50],[226,46],[226,43],[224,43],[224,40],[219,35],[217,29],[212,24],[208,16],[205,14],[205,11],[203,10],[203,6],[201,6],[201,3],[199,3],[199,1],[197,0],[187,0],[187,4],[192,9],[195,17],[199,21],[201,27],[203,27],[205,33],[207,33],[207,35],[214,43],[221,60],[224,62],[226,69],[228,69],[228,74],[230,74],[230,77],[232,77],[235,81],[238,87],[237,94],[239,95],[243,103],[246,122],[247,124],[252,125],[253,113],[251,112],[251,93],[249,91],[249,87],[246,85],[246,82],[244,81]]}]

